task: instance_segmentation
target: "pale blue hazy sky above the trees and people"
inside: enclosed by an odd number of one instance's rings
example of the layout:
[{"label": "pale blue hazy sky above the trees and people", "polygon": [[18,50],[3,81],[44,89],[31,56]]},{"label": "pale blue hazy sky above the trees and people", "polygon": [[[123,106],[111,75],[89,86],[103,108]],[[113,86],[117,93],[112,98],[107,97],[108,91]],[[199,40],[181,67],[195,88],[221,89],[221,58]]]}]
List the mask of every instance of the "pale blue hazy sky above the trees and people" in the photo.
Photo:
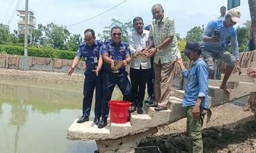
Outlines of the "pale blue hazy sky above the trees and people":
[{"label": "pale blue hazy sky above the trees and people", "polygon": [[[19,17],[15,8],[24,9],[26,0],[0,0],[0,23],[9,24],[10,31],[17,29]],[[125,0],[28,0],[29,9],[33,10],[36,24],[47,25],[53,22],[58,25],[72,25],[113,8]],[[126,0],[113,10],[99,17],[88,20],[81,24],[67,26],[72,34],[81,34],[91,28],[95,33],[102,33],[104,27],[111,24],[111,18],[120,22],[132,21],[135,17],[143,18],[145,26],[152,21],[151,8],[154,4],[162,4],[164,14],[175,20],[177,33],[183,38],[187,32],[195,27],[206,26],[211,20],[220,16],[220,7],[227,7],[227,0],[162,0],[140,1]],[[241,23],[250,20],[250,11],[247,0],[241,0]]]}]

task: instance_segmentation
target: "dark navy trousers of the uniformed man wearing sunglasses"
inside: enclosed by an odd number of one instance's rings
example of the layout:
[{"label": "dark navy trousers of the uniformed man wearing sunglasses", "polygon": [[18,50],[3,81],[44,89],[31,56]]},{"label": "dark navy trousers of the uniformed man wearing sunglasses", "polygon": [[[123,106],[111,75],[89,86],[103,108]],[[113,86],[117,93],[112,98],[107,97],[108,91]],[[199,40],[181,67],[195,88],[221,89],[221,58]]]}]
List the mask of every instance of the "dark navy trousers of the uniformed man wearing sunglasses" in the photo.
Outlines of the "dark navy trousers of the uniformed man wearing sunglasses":
[{"label": "dark navy trousers of the uniformed man wearing sunglasses", "polygon": [[111,96],[115,85],[118,85],[120,91],[123,94],[124,101],[131,101],[131,84],[127,78],[127,72],[120,73],[103,72],[103,98],[102,98],[102,120],[106,121],[109,114],[108,103],[111,100]]}]

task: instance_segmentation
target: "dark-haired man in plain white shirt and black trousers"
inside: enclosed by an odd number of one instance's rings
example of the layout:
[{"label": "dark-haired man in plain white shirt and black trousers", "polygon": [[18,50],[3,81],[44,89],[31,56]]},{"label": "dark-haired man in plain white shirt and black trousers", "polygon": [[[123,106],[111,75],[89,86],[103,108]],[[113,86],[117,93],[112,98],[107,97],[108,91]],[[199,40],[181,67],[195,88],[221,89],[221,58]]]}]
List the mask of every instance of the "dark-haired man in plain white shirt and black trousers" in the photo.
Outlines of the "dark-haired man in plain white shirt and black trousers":
[{"label": "dark-haired man in plain white shirt and black trousers", "polygon": [[130,78],[131,78],[131,108],[130,112],[137,110],[137,113],[143,113],[143,100],[145,96],[146,82],[150,73],[150,59],[140,59],[134,54],[147,47],[149,31],[143,29],[143,19],[136,17],[133,19],[133,27],[129,38],[129,46],[131,50],[131,65],[130,65]]}]

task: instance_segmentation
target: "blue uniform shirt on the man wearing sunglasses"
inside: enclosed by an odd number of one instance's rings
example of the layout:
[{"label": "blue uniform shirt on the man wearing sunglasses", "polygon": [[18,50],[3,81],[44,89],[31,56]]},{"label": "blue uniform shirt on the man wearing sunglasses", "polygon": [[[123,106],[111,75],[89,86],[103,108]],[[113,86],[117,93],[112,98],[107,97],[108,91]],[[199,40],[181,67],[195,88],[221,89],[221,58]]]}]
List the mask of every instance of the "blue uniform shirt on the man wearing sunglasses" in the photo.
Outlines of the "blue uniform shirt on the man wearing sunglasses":
[{"label": "blue uniform shirt on the man wearing sunglasses", "polygon": [[[123,41],[120,42],[120,45],[116,46],[113,40],[105,41],[101,47],[100,52],[102,54],[108,53],[110,59],[115,60],[125,60],[125,56],[130,54],[129,44]],[[112,71],[110,64],[104,62],[104,69]],[[122,66],[119,70],[125,70],[125,67]]]}]

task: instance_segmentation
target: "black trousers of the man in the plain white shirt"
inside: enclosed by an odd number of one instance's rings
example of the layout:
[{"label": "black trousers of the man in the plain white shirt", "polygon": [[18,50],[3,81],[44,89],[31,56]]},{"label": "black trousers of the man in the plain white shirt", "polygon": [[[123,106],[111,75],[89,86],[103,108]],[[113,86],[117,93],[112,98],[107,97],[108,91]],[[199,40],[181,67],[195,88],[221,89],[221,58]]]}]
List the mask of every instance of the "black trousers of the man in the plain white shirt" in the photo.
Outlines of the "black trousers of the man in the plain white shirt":
[{"label": "black trousers of the man in the plain white shirt", "polygon": [[131,101],[132,105],[137,107],[143,106],[143,100],[145,96],[146,82],[150,69],[134,69],[130,68],[130,78],[132,85]]}]

